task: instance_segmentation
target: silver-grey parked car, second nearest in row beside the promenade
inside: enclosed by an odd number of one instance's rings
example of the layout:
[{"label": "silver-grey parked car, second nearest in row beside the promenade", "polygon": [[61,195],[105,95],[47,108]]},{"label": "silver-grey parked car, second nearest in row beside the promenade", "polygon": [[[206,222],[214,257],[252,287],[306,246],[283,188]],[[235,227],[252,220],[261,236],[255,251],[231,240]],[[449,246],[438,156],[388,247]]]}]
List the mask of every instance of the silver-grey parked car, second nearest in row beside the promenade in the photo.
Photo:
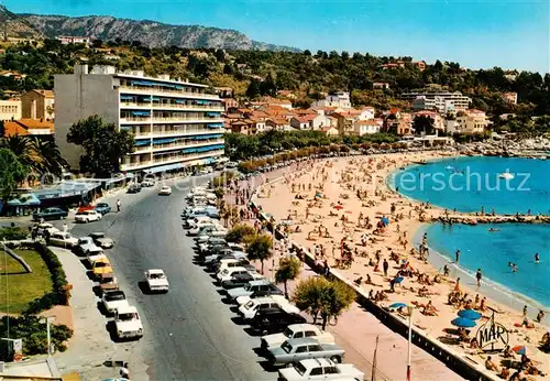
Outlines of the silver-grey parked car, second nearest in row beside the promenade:
[{"label": "silver-grey parked car, second nearest in row beside the promenade", "polygon": [[310,358],[329,358],[342,362],[344,350],[336,344],[319,342],[316,339],[288,339],[280,347],[267,349],[267,359],[274,364],[287,364]]}]

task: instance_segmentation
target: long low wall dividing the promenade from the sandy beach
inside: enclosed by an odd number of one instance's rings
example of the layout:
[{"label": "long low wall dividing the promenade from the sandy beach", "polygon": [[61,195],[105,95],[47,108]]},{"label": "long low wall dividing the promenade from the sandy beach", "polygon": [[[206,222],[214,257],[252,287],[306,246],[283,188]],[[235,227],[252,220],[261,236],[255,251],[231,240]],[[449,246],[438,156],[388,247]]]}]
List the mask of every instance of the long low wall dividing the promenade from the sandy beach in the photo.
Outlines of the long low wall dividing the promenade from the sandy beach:
[{"label": "long low wall dividing the promenade from the sandy beach", "polygon": [[[275,179],[279,181],[280,178]],[[273,183],[273,182],[271,182]],[[285,235],[279,230],[274,230],[274,225],[270,221],[270,218],[261,210],[261,207],[254,200],[251,202],[251,206],[256,208],[258,211],[258,217],[262,221],[267,221],[267,228],[273,232],[274,237],[277,239],[284,238]],[[316,269],[315,264],[315,255],[312,255],[309,250],[294,241],[290,241],[290,244],[296,250],[301,250],[305,252],[304,261],[311,268]],[[391,313],[387,309],[382,308],[371,300],[369,300],[367,293],[355,286],[352,282],[350,282],[345,276],[343,276],[338,270],[330,269],[329,276],[331,279],[338,279],[345,283],[349,287],[354,290],[358,294],[356,302],[360,304],[365,311],[376,316],[381,323],[387,326],[393,331],[402,335],[405,338],[408,338],[408,320],[403,319],[400,316]],[[491,373],[485,370],[484,363],[477,363],[476,361],[470,359],[464,353],[457,352],[452,350],[452,348],[447,347],[442,342],[438,341],[437,338],[430,337],[428,334],[413,327],[413,342],[442,361],[447,367],[452,369],[454,372],[460,374],[461,377],[468,380],[501,380],[497,378],[495,373]],[[413,369],[414,372],[414,369]]]}]

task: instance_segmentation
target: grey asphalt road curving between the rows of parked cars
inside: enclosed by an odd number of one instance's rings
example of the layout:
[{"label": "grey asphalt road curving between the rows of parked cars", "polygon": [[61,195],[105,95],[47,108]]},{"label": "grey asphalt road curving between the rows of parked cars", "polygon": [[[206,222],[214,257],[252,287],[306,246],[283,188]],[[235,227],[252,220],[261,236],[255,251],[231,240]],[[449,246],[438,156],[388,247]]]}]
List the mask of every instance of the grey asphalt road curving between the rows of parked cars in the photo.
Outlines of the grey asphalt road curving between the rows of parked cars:
[{"label": "grey asphalt road curving between the rows of parked cars", "polygon": [[[136,350],[146,359],[148,377],[276,379],[276,373],[263,370],[262,358],[253,351],[258,347],[258,338],[249,336],[232,322],[235,315],[221,302],[213,280],[193,263],[194,242],[185,236],[179,217],[190,184],[179,181],[170,196],[158,196],[158,187],[121,195],[121,213],[111,213],[98,222],[76,225],[72,230],[77,237],[105,231],[114,239],[114,248],[107,254],[121,289],[142,315],[144,337]],[[109,203],[114,206],[113,199]],[[142,293],[139,283],[143,272],[153,268],[164,269],[168,275],[167,294]],[[128,360],[131,367],[132,359]]]}]

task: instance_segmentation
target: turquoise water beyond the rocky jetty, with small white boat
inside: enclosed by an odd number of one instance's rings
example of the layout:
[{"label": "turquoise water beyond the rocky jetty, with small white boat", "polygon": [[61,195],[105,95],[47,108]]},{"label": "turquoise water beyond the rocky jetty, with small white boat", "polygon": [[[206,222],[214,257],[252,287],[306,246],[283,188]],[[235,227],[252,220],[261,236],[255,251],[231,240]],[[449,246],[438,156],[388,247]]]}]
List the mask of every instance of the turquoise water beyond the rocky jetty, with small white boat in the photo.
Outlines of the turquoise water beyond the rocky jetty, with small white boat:
[{"label": "turquoise water beyond the rocky jetty, with small white boat", "polygon": [[[514,178],[498,178],[509,172]],[[414,165],[389,179],[399,193],[459,211],[550,214],[550,160],[459,157]]]}]

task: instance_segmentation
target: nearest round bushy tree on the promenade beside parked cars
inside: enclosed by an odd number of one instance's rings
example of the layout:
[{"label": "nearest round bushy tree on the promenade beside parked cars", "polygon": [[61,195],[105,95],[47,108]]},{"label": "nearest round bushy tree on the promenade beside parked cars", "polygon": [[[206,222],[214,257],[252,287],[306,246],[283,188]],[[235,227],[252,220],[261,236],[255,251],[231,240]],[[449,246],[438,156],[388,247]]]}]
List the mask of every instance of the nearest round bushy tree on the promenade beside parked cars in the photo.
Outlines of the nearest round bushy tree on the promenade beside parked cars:
[{"label": "nearest round bushy tree on the promenade beside parked cars", "polygon": [[292,300],[298,308],[311,315],[314,323],[320,315],[324,329],[331,317],[340,316],[351,306],[355,292],[340,281],[312,276],[298,283]]}]

